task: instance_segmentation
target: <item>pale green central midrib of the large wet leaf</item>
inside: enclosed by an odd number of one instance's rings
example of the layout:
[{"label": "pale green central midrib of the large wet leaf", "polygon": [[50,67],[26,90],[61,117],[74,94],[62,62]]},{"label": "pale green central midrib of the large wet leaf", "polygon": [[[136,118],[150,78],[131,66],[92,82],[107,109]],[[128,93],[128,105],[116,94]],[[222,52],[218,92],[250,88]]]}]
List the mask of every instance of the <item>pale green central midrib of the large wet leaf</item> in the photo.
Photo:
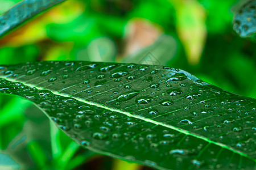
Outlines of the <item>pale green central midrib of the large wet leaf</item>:
[{"label": "pale green central midrib of the large wet leaf", "polygon": [[[3,78],[3,79],[6,79],[10,82],[19,82],[19,81],[15,81],[13,79],[9,79],[9,78],[6,78],[6,77],[3,77],[3,76],[0,76],[0,78]],[[28,87],[36,87],[38,88],[38,90],[47,90],[46,88],[42,88],[42,87],[38,87],[38,86],[35,86],[34,84],[29,84],[29,83],[24,83],[22,82],[24,85],[28,86]],[[56,92],[56,91],[51,91],[53,94],[55,95],[58,95],[58,96],[63,96],[63,97],[71,97],[71,96],[68,96],[68,95],[64,95],[64,94],[61,94],[59,92]],[[158,122],[158,121],[154,121],[154,120],[151,120],[150,118],[144,118],[144,117],[141,117],[141,116],[136,116],[134,114],[131,114],[129,112],[123,112],[123,111],[120,111],[118,109],[114,109],[114,108],[109,108],[109,107],[105,107],[104,105],[100,105],[100,104],[97,104],[97,103],[92,103],[90,101],[86,101],[86,100],[83,100],[83,99],[80,99],[79,97],[72,97],[78,101],[81,101],[82,103],[85,103],[85,104],[89,104],[89,105],[94,105],[96,107],[99,107],[99,108],[104,108],[104,109],[107,109],[109,111],[112,111],[112,112],[118,112],[118,113],[121,113],[121,114],[125,114],[126,116],[129,116],[129,117],[133,117],[133,118],[137,118],[139,120],[143,120],[145,122],[150,122],[154,125],[160,125],[160,126],[163,126],[165,128],[169,128],[169,129],[172,129],[172,130],[175,130],[175,131],[179,131],[180,133],[183,133],[185,135],[191,135],[192,137],[196,137],[196,138],[199,138],[199,139],[202,139],[203,141],[206,141],[208,143],[213,143],[214,145],[217,145],[217,146],[220,146],[222,148],[226,148],[227,150],[230,150],[236,154],[239,154],[241,156],[245,156],[246,158],[249,158],[251,160],[253,160],[254,162],[256,161],[256,159],[254,158],[251,158],[250,156],[246,155],[246,154],[243,154],[242,152],[240,151],[237,151],[235,150],[234,148],[230,147],[230,146],[227,146],[223,143],[220,143],[220,142],[215,142],[215,141],[211,141],[210,139],[208,138],[205,138],[201,135],[198,135],[198,134],[194,134],[194,133],[191,133],[187,130],[184,130],[184,129],[180,129],[180,128],[176,128],[175,126],[172,126],[172,125],[167,125],[167,124],[164,124],[162,122]]]}]

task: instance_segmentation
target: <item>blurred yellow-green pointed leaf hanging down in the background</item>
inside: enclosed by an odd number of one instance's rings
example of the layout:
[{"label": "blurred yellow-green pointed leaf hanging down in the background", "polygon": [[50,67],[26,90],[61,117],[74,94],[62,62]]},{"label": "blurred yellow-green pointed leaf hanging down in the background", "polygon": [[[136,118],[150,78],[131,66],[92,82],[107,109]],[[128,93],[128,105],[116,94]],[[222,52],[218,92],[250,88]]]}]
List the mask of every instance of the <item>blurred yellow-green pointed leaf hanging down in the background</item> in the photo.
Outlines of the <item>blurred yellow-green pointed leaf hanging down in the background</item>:
[{"label": "blurred yellow-green pointed leaf hanging down in the background", "polygon": [[176,11],[176,30],[190,65],[197,65],[204,48],[207,30],[205,9],[196,0],[172,1]]}]

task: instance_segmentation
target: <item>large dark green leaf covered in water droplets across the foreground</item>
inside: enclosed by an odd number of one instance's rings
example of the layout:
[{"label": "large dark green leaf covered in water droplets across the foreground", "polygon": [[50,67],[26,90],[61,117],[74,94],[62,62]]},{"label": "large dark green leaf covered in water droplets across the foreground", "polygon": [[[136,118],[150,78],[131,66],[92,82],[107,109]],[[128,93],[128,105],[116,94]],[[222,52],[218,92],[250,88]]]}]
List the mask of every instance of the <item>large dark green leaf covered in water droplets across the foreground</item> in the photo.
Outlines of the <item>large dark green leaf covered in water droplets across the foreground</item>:
[{"label": "large dark green leaf covered in water droplets across the foreground", "polygon": [[255,168],[256,100],[183,70],[43,61],[1,66],[0,78],[0,92],[92,151],[158,169]]}]

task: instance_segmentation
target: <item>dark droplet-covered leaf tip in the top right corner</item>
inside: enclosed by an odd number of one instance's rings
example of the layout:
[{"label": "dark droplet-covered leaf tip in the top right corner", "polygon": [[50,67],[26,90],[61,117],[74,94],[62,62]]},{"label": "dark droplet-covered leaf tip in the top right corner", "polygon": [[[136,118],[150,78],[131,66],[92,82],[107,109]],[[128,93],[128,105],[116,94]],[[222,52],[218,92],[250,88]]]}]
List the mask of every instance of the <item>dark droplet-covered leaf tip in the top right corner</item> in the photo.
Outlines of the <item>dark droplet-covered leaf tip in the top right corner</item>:
[{"label": "dark droplet-covered leaf tip in the top right corner", "polygon": [[241,37],[250,37],[256,32],[256,1],[243,5],[233,20],[234,30]]}]

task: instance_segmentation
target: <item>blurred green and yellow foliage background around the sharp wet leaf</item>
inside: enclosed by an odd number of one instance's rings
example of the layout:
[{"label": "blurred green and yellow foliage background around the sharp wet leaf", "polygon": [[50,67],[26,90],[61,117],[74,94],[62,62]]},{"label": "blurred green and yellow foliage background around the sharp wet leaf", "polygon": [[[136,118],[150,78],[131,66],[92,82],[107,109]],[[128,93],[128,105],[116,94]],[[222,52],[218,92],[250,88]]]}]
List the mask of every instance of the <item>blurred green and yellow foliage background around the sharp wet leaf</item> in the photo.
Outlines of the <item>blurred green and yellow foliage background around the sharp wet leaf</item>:
[{"label": "blurred green and yellow foliage background around the sharp wet leaf", "polygon": [[[0,0],[0,15],[17,2]],[[71,59],[166,65],[256,98],[255,41],[233,31],[237,4],[69,0],[2,37],[0,63]],[[30,102],[0,95],[0,169],[150,168],[85,150]]]}]

